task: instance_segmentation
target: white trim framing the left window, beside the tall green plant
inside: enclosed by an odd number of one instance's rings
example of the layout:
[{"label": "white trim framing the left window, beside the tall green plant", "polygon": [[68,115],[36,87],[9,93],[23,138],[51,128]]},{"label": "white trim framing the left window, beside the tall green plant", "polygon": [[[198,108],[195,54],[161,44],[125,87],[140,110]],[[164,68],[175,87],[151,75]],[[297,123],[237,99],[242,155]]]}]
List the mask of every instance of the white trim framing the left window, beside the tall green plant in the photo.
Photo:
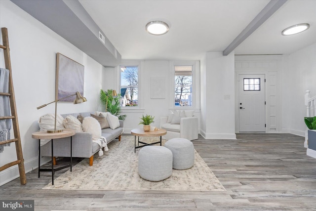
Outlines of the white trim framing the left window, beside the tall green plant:
[{"label": "white trim framing the left window, beside the tall green plant", "polygon": [[121,111],[124,113],[143,113],[144,112],[144,94],[142,91],[143,88],[143,75],[142,74],[142,67],[144,67],[144,61],[142,60],[122,60],[121,64],[117,68],[117,78],[118,78],[118,84],[116,85],[118,87],[118,90],[120,90],[120,67],[121,66],[137,66],[138,67],[138,106],[124,106],[121,107]]}]

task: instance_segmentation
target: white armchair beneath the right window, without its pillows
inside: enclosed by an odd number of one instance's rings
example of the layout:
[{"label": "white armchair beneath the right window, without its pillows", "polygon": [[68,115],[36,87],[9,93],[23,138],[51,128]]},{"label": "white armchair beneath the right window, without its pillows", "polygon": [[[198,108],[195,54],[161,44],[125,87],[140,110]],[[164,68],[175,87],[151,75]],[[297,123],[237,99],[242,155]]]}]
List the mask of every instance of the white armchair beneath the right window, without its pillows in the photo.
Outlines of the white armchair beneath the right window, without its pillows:
[{"label": "white armchair beneath the right window, without its pillows", "polygon": [[195,140],[198,138],[198,118],[182,117],[180,124],[168,123],[168,117],[160,117],[160,128],[167,130],[167,134],[162,138],[169,140],[171,138],[186,138],[188,140]]}]

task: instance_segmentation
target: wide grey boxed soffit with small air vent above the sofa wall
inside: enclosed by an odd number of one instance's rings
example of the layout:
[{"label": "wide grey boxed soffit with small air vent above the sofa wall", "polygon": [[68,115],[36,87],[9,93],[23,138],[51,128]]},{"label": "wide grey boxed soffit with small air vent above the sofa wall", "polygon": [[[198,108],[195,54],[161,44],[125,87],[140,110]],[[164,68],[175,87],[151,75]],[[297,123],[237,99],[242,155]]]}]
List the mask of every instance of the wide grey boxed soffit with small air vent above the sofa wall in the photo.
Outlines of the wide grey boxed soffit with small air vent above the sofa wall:
[{"label": "wide grey boxed soffit with small air vent above the sofa wall", "polygon": [[121,55],[79,0],[11,1],[104,67],[119,65]]}]

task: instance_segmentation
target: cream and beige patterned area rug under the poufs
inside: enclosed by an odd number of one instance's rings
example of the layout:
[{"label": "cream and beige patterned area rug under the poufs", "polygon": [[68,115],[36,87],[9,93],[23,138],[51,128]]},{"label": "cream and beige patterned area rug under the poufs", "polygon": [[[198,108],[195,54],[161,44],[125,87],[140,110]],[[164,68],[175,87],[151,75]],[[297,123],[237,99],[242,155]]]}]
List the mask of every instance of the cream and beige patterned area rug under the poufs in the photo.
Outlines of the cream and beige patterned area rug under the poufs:
[{"label": "cream and beige patterned area rug under the poufs", "polygon": [[[143,141],[149,143],[157,139],[143,137]],[[164,142],[162,140],[162,145]],[[93,166],[89,166],[89,159],[84,159],[72,168],[72,172],[66,171],[54,179],[54,185],[49,183],[43,189],[226,191],[196,151],[191,169],[173,169],[169,178],[151,182],[138,174],[141,148],[134,152],[134,136],[122,136],[120,142],[112,141],[108,148],[103,156],[94,155]]]}]

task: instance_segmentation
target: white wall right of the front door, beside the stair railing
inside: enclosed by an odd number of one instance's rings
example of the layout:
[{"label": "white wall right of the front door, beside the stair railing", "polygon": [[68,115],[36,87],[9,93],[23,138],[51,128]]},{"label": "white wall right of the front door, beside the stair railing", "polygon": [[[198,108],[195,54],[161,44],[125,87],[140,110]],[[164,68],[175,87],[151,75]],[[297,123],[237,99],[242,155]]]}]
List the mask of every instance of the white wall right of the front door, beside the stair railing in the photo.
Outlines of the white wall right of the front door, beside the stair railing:
[{"label": "white wall right of the front door, beside the stair railing", "polygon": [[316,95],[316,43],[290,55],[282,68],[282,131],[305,135],[304,94]]}]

